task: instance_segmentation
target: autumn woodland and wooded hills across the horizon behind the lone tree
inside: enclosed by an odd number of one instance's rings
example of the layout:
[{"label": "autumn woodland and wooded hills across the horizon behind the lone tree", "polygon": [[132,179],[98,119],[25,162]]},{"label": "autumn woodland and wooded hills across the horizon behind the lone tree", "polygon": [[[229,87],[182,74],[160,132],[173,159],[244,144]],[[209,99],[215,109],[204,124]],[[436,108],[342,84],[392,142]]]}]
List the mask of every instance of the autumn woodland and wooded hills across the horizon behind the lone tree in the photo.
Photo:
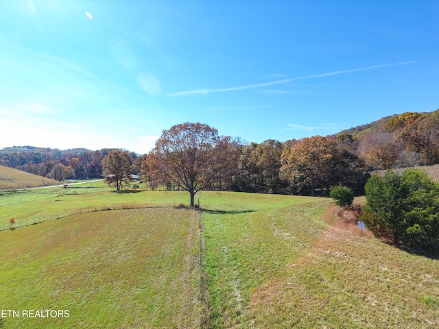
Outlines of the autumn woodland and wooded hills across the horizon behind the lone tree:
[{"label": "autumn woodland and wooded hills across the horizon behind the lone tree", "polygon": [[[335,135],[283,143],[218,136],[212,147],[217,160],[227,160],[206,189],[327,195],[331,186],[343,184],[361,194],[370,171],[439,163],[439,110],[394,114]],[[0,150],[0,164],[54,180],[102,178],[102,160],[110,151],[10,147]],[[148,188],[181,187],[163,175],[156,150],[129,153],[132,173],[141,173]]]}]

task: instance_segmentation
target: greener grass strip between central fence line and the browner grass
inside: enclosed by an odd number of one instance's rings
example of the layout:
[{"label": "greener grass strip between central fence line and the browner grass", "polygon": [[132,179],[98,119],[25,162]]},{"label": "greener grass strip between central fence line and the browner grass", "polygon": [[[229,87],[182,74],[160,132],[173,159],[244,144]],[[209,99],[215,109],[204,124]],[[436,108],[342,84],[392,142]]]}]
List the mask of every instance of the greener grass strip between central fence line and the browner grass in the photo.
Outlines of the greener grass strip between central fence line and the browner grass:
[{"label": "greener grass strip between central fence line and the browner grass", "polygon": [[254,328],[252,292],[287,273],[324,231],[318,214],[327,201],[289,197],[292,206],[283,208],[266,201],[263,210],[203,214],[210,307],[204,328]]}]

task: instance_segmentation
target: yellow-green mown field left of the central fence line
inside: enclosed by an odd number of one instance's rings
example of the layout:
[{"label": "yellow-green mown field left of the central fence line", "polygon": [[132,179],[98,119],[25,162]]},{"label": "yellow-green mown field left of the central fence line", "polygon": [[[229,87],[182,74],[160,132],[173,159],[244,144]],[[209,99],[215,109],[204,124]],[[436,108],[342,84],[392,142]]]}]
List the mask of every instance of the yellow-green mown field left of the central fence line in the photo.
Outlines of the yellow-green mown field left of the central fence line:
[{"label": "yellow-green mown field left of the central fence line", "polygon": [[114,210],[0,232],[5,328],[196,328],[198,212]]}]

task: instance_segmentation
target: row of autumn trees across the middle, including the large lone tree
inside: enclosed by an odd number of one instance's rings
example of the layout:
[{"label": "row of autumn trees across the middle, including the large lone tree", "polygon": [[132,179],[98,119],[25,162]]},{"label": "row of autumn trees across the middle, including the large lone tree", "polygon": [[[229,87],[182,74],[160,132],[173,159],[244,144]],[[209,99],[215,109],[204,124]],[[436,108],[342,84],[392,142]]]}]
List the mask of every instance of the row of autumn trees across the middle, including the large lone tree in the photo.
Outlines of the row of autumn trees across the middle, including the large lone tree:
[{"label": "row of autumn trees across the middle, including the large lone tree", "polygon": [[[110,154],[119,164],[108,160]],[[364,160],[327,137],[246,144],[239,138],[220,136],[215,128],[202,123],[182,123],[164,130],[152,151],[125,162],[123,179],[120,167],[128,152],[110,154],[104,158],[103,169],[109,183],[120,188],[134,171],[152,190],[165,186],[189,191],[191,206],[195,193],[202,189],[327,195],[331,186],[342,184],[360,194],[369,177]]]}]

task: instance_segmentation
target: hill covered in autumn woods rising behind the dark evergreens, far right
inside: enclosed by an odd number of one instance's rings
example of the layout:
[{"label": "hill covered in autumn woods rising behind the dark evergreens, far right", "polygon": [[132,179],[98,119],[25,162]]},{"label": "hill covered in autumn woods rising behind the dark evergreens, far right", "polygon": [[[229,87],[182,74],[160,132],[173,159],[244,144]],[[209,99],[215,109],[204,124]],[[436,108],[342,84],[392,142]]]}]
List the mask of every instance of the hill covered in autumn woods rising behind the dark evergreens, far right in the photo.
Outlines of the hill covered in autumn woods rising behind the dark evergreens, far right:
[{"label": "hill covered in autumn woods rising behind the dark evergreens, far right", "polygon": [[439,110],[393,114],[328,137],[373,170],[439,164]]}]

